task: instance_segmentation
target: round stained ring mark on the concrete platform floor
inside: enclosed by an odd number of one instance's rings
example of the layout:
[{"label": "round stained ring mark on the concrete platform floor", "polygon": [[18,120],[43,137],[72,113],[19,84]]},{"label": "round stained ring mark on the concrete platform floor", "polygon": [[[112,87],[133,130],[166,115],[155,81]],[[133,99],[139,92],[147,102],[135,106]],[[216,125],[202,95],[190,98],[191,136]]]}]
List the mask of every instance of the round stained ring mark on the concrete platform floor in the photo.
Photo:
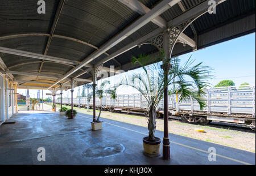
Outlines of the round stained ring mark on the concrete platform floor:
[{"label": "round stained ring mark on the concrete platform floor", "polygon": [[125,150],[122,144],[118,143],[107,143],[97,145],[96,147],[88,148],[82,152],[82,156],[85,158],[104,158],[114,156]]}]

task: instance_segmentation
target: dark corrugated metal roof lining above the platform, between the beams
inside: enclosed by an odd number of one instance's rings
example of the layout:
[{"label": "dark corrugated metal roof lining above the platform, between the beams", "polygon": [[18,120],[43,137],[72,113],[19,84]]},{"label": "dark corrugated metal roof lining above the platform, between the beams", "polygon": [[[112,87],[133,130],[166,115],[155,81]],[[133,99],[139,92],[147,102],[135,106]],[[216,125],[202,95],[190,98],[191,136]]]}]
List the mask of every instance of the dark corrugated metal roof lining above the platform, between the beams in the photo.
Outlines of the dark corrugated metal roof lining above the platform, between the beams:
[{"label": "dark corrugated metal roof lining above the platform, between the beams", "polygon": [[[159,0],[139,0],[148,8],[154,8],[159,3]],[[206,1],[206,0],[205,0]],[[203,0],[182,0],[185,10],[189,10]],[[0,37],[6,35],[16,35],[24,33],[44,33],[49,34],[52,28],[53,19],[55,18],[59,1],[46,1],[46,14],[37,13],[37,1],[34,0],[0,0]],[[217,6],[217,14],[209,15],[208,13],[201,16],[193,25],[198,35],[207,32],[212,28],[216,28],[225,23],[232,22],[248,14],[255,14],[255,0],[227,0],[221,5]],[[175,5],[162,15],[162,18],[169,21],[176,16],[183,14],[179,5]],[[118,0],[66,0],[61,11],[59,21],[56,25],[54,35],[61,35],[72,37],[73,40],[81,40],[89,42],[90,44],[101,48],[110,38],[117,35],[124,28],[129,26],[135,20],[140,18],[137,12],[134,12],[129,7],[123,5]],[[154,31],[158,28],[157,25],[150,22],[137,32],[127,37],[125,40],[109,49],[108,54],[121,49],[123,46],[138,40],[142,36]],[[188,27],[184,33],[193,37],[193,32]],[[46,49],[48,37],[45,36],[31,36],[31,37],[16,37],[7,40],[0,40],[0,46],[6,48],[19,49],[23,51],[30,51],[33,53],[43,54]],[[188,51],[189,46],[182,48],[180,44],[175,48],[174,53],[184,53]],[[179,51],[177,51],[179,50]],[[63,38],[53,37],[49,45],[48,55],[71,59],[74,61],[82,61],[89,54],[96,51],[88,45],[81,44],[76,41],[71,41]],[[156,48],[152,45],[143,45],[140,49],[134,48],[132,50],[119,55],[117,61],[122,65],[129,63],[132,56],[137,56],[141,53],[155,52]],[[27,57],[20,57],[11,54],[2,54],[0,57],[3,59],[7,67],[20,64],[22,62],[40,61],[40,59],[31,59]],[[91,64],[100,62],[101,59],[106,57],[105,54],[94,59]],[[117,62],[109,61],[104,66],[115,65]],[[28,72],[37,72],[40,63],[31,63],[31,65],[22,65],[20,67],[13,67],[13,71],[26,70]],[[28,69],[31,68],[31,69]],[[67,65],[58,65],[52,63],[44,63],[42,74],[44,72],[53,72],[56,75],[63,75],[68,72],[72,67]],[[85,67],[83,67],[85,69]],[[79,74],[81,71],[77,71]],[[75,76],[73,74],[72,76]],[[15,75],[16,78],[25,78],[26,76]],[[80,78],[89,78],[89,74],[84,74]],[[26,79],[36,79],[36,76],[27,76]],[[56,79],[51,79],[56,80]],[[64,82],[64,81],[63,81]]]}]

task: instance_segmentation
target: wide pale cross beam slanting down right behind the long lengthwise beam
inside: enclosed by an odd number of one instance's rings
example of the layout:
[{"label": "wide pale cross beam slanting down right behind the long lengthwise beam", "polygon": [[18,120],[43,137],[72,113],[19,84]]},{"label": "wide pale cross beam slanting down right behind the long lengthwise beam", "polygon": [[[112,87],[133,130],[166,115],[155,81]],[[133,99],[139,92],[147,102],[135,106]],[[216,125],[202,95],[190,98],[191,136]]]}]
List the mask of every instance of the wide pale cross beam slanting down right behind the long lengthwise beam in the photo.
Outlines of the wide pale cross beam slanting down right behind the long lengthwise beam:
[{"label": "wide pale cross beam slanting down right behind the long lengthwise beam", "polygon": [[[138,0],[118,0],[118,1],[126,5],[127,7],[131,8],[131,10],[138,12],[141,15],[147,14],[151,10],[150,8],[143,5],[143,3],[139,2]],[[180,4],[182,5],[181,1],[177,3],[179,5]],[[161,16],[156,16],[156,18],[152,19],[151,22],[155,23],[160,28],[167,28],[167,22]],[[193,41],[192,38],[189,38],[184,33],[181,33],[181,36],[178,38],[178,40],[191,46],[192,48],[196,46],[196,42]]]}]

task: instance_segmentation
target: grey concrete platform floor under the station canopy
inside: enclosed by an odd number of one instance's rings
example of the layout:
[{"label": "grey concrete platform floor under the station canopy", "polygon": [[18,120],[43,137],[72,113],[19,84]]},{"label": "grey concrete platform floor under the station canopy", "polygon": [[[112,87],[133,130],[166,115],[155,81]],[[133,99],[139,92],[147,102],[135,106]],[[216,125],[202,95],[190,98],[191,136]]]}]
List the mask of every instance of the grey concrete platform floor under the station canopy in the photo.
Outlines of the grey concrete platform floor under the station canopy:
[{"label": "grey concrete platform floor under the station canopy", "polygon": [[[59,112],[15,114],[9,120],[15,124],[0,126],[0,164],[255,164],[255,153],[174,134],[171,160],[149,158],[142,153],[147,128],[102,118],[103,129],[92,131],[91,120],[81,113],[75,119]],[[155,136],[162,139],[163,132]],[[39,147],[46,161],[38,161]],[[210,147],[216,161],[208,160]]]}]

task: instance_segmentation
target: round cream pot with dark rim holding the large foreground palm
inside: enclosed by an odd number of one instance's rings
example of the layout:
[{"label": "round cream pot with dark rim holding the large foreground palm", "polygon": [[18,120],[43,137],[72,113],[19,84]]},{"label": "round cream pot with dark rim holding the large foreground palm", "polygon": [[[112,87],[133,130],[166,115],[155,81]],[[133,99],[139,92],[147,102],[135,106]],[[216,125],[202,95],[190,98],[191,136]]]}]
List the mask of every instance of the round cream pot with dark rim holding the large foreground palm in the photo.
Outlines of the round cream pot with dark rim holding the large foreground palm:
[{"label": "round cream pot with dark rim holding the large foreground palm", "polygon": [[160,145],[161,140],[160,138],[156,138],[156,141],[148,141],[148,137],[143,138],[143,148],[144,148],[144,154],[148,157],[157,157],[160,156]]}]

